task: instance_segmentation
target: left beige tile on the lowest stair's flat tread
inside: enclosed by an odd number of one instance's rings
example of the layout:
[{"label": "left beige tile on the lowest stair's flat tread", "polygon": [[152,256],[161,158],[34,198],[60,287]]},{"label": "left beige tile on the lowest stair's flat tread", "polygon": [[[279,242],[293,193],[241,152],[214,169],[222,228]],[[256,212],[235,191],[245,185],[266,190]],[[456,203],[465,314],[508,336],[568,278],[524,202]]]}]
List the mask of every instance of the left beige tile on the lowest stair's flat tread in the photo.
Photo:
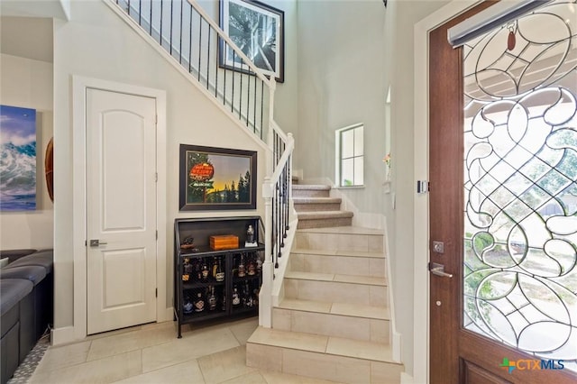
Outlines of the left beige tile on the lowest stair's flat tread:
[{"label": "left beige tile on the lowest stair's flat tread", "polygon": [[305,349],[307,351],[324,352],[327,336],[320,334],[298,334],[286,331],[276,331],[270,328],[259,329],[252,334],[249,342],[275,345],[284,348]]}]

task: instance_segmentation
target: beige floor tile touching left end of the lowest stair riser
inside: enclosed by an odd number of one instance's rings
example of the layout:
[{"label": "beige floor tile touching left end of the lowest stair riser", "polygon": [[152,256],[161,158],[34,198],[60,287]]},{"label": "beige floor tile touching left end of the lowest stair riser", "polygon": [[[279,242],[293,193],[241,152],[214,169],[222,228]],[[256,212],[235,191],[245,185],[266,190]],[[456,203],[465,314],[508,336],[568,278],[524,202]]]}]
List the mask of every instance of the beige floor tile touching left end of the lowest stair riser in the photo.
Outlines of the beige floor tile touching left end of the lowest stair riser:
[{"label": "beige floor tile touching left end of the lowest stair riser", "polygon": [[256,370],[246,366],[245,346],[203,356],[197,361],[206,383],[224,382]]}]

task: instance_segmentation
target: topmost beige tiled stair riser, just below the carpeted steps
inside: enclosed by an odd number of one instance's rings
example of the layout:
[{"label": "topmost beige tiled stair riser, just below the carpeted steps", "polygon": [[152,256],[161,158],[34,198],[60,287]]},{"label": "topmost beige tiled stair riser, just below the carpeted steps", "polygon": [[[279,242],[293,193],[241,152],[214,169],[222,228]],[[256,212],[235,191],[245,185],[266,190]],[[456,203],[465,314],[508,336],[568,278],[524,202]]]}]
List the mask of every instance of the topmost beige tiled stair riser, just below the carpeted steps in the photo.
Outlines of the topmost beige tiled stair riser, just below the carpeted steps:
[{"label": "topmost beige tiled stair riser, just below the carpeted steps", "polygon": [[[298,222],[300,224],[300,222]],[[295,246],[308,250],[383,252],[382,234],[297,232]]]}]

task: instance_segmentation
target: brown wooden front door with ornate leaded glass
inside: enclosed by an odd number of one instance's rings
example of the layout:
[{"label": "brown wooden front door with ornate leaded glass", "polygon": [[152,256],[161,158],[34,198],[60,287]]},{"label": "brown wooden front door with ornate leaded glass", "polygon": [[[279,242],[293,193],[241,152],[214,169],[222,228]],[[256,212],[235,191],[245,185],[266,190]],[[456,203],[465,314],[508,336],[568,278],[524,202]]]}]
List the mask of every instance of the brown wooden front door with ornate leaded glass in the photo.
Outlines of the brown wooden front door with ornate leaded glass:
[{"label": "brown wooden front door with ornate leaded glass", "polygon": [[429,36],[430,381],[575,382],[577,4],[453,49],[491,3]]}]

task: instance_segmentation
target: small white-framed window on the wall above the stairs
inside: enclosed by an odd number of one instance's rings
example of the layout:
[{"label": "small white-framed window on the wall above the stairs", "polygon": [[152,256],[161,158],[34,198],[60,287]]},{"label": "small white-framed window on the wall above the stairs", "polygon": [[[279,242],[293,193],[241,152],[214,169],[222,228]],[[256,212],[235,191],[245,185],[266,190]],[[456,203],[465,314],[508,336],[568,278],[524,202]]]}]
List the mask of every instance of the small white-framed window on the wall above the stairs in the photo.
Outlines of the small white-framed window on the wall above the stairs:
[{"label": "small white-framed window on the wall above the stairs", "polygon": [[362,124],[336,131],[336,179],[341,187],[364,184],[364,142]]}]

